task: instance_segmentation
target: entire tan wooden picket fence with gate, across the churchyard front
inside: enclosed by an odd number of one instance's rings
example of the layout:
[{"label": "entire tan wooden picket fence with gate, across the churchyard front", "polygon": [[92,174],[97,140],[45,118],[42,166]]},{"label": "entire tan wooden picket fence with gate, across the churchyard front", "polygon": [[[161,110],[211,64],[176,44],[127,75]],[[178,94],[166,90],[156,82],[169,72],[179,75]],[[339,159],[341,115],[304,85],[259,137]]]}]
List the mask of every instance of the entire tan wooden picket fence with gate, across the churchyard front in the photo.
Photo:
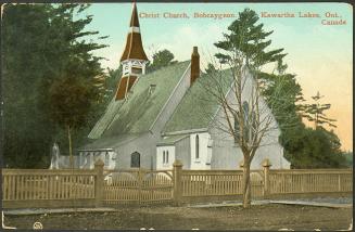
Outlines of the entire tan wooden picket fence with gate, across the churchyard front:
[{"label": "entire tan wooden picket fence with gate, across the churchyard front", "polygon": [[[268,164],[268,163],[267,163]],[[2,169],[4,208],[99,207],[129,204],[213,201],[242,195],[242,170]],[[352,169],[251,171],[252,197],[352,193]]]}]

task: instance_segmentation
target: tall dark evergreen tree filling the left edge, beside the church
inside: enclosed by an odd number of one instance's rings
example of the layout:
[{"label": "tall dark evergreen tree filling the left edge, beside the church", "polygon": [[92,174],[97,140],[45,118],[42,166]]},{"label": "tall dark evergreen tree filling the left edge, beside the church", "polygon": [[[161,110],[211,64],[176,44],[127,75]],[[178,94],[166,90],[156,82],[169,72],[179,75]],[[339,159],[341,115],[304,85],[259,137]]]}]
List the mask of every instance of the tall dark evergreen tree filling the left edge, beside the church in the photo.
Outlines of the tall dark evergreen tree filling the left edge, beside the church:
[{"label": "tall dark evergreen tree filling the left edge, beside the church", "polygon": [[[92,82],[102,73],[100,57],[93,56],[91,51],[103,46],[86,41],[87,37],[98,34],[85,31],[92,16],[74,20],[87,8],[87,4],[3,7],[3,154],[10,167],[48,167],[53,141],[65,138],[50,118],[52,82],[65,76],[71,64]],[[97,112],[91,108],[89,114],[88,124],[93,124]]]}]

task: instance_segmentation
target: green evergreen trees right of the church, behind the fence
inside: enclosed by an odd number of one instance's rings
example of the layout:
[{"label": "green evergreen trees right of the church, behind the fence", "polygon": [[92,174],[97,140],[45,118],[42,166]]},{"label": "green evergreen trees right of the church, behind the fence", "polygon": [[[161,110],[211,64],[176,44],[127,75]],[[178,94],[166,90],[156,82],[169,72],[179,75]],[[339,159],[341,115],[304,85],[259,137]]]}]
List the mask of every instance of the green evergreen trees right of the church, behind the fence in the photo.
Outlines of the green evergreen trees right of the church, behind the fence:
[{"label": "green evergreen trees right of the church, behind the fence", "polygon": [[[282,66],[282,70],[278,69],[278,74],[259,75],[265,81],[266,88],[263,91],[265,100],[268,104],[279,104],[282,107],[274,107],[274,115],[281,130],[280,143],[284,149],[284,156],[291,163],[293,168],[340,168],[345,167],[345,159],[341,152],[341,143],[333,131],[327,131],[322,127],[317,126],[315,129],[306,128],[302,121],[302,117],[309,114],[309,105],[302,104],[304,102],[302,89],[295,80],[295,76],[287,74],[287,65]],[[283,85],[277,85],[282,81]],[[270,99],[279,92],[277,99]],[[319,100],[319,93],[315,100]],[[274,103],[272,103],[274,102]],[[313,108],[317,108],[322,113],[328,108],[329,104],[313,104]],[[288,118],[279,117],[286,113]],[[324,113],[322,113],[324,115]],[[317,118],[309,114],[312,118]],[[332,120],[333,121],[333,120]]]}]

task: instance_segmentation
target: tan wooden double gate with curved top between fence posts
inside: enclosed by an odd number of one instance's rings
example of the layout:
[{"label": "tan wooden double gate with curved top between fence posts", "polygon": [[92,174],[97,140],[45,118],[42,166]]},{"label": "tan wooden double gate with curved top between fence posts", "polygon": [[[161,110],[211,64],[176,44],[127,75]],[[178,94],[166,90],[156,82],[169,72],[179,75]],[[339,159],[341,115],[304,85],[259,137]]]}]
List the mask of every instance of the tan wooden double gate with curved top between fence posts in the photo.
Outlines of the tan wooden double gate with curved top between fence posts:
[{"label": "tan wooden double gate with curved top between fence posts", "polygon": [[104,203],[150,204],[173,199],[172,171],[112,170],[104,173]]}]

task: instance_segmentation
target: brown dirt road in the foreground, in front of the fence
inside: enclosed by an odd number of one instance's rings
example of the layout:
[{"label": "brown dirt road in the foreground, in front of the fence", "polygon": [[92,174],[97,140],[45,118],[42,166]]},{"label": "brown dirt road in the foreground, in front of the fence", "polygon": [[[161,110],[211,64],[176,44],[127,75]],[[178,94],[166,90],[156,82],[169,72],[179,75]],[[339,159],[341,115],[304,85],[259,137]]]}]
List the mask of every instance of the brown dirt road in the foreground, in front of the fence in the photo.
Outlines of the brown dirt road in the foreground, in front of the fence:
[{"label": "brown dirt road in the foreground, in front of the fence", "polygon": [[180,229],[191,230],[344,230],[352,220],[352,208],[326,208],[290,205],[188,208],[137,207],[113,212],[47,214],[7,216],[5,224],[31,229],[40,221],[43,229]]}]

